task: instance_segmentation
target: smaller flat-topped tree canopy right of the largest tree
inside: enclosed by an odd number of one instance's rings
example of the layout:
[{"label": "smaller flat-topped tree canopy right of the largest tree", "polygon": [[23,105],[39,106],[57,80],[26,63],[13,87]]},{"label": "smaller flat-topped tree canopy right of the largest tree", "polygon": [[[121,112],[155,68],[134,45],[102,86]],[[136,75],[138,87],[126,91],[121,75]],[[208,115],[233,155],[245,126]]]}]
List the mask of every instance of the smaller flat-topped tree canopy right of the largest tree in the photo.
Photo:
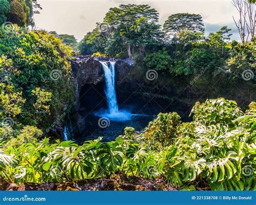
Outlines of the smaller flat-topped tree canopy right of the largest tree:
[{"label": "smaller flat-topped tree canopy right of the largest tree", "polygon": [[168,17],[164,23],[164,32],[167,36],[176,36],[184,30],[204,32],[204,23],[201,15],[194,13],[176,13]]}]

